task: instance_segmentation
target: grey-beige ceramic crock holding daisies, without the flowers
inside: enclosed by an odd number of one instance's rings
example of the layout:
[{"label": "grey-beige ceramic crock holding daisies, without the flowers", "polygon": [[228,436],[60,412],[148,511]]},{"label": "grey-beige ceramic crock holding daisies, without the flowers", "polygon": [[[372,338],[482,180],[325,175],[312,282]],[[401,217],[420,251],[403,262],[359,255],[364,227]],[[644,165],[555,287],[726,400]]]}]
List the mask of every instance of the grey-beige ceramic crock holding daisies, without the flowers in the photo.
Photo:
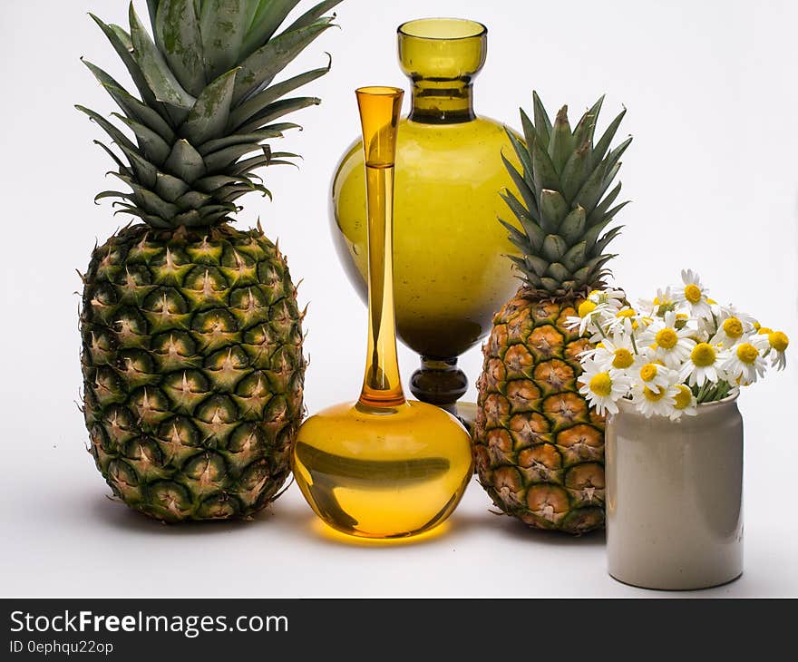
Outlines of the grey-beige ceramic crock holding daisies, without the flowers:
[{"label": "grey-beige ceramic crock holding daisies, without the flowers", "polygon": [[706,589],[743,572],[743,418],[737,396],[696,416],[646,418],[628,401],[606,434],[609,574],[647,589]]}]

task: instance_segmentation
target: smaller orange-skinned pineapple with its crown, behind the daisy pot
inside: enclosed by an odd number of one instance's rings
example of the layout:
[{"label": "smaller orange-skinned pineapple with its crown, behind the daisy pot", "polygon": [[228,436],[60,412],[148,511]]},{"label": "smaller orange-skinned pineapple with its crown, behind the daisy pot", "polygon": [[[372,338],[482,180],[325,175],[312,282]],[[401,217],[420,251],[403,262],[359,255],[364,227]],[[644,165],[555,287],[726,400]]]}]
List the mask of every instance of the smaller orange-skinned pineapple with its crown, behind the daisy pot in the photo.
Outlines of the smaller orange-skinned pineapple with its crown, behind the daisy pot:
[{"label": "smaller orange-skinned pineapple with its crown, behind the daisy pot", "polygon": [[610,151],[624,113],[594,144],[602,99],[571,131],[568,108],[552,125],[537,93],[534,118],[521,111],[526,146],[510,134],[522,164],[505,160],[521,200],[502,197],[520,229],[501,221],[521,257],[516,296],[493,319],[483,348],[474,427],[480,482],[502,511],[531,527],[581,533],[604,525],[604,420],[579,394],[579,353],[590,348],[566,328],[591,290],[603,287],[605,252],[619,228],[620,157]]}]

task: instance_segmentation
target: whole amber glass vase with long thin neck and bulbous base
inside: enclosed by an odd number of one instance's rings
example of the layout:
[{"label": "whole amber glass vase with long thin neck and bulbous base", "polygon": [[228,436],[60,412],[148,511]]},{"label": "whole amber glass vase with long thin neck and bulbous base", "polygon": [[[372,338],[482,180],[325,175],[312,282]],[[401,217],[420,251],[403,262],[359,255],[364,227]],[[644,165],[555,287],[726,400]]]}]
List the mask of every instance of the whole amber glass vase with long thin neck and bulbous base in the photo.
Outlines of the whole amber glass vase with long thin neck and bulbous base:
[{"label": "whole amber glass vase with long thin neck and bulbous base", "polygon": [[429,531],[457,506],[472,476],[471,439],[442,409],[404,399],[394,324],[394,158],[402,90],[357,91],[367,182],[368,352],[360,397],[302,424],[297,484],[338,531],[403,538]]}]

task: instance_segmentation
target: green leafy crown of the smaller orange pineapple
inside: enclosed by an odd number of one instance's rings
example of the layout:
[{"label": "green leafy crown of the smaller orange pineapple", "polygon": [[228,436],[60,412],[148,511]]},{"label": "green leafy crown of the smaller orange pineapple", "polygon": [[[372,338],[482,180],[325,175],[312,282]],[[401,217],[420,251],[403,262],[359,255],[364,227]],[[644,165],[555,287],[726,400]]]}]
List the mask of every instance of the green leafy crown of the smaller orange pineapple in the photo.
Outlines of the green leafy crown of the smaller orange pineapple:
[{"label": "green leafy crown of the smaller orange pineapple", "polygon": [[521,272],[530,296],[563,300],[604,286],[609,273],[605,265],[615,257],[604,251],[621,228],[602,232],[628,204],[613,206],[620,184],[609,193],[607,190],[632,139],[610,151],[624,110],[594,144],[603,96],[573,131],[568,106],[562,107],[552,125],[538,93],[532,92],[532,96],[535,121],[521,109],[526,145],[508,131],[522,171],[502,155],[521,200],[510,190],[502,191],[501,197],[521,229],[500,221],[510,230],[512,244],[521,251],[521,257],[509,257]]}]

